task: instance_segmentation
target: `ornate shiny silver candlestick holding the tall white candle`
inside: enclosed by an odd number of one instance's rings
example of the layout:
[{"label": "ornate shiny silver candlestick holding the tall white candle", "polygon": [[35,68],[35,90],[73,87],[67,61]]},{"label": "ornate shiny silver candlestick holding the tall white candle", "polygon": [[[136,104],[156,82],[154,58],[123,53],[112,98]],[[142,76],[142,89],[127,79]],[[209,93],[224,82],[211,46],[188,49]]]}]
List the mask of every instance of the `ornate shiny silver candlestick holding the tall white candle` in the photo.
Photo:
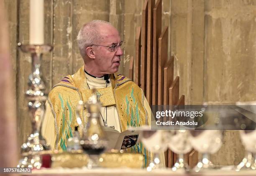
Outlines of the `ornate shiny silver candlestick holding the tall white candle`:
[{"label": "ornate shiny silver candlestick holding the tall white candle", "polygon": [[21,154],[24,157],[20,160],[18,167],[41,168],[41,154],[47,153],[50,146],[41,135],[41,125],[44,120],[44,103],[47,95],[44,93],[45,84],[41,78],[41,58],[44,53],[52,50],[49,45],[21,45],[21,51],[30,53],[32,59],[32,73],[28,76],[28,90],[25,95],[28,99],[28,111],[31,118],[32,133],[23,145]]}]

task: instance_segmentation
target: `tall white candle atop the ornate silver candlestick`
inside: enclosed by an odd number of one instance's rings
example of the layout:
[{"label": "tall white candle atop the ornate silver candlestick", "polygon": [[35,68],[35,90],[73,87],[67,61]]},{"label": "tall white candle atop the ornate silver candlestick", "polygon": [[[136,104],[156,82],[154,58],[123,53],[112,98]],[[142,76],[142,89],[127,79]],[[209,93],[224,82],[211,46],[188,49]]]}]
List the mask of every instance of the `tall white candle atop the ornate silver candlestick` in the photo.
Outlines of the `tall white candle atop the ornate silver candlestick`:
[{"label": "tall white candle atop the ornate silver candlestick", "polygon": [[44,0],[30,0],[29,44],[44,44]]}]

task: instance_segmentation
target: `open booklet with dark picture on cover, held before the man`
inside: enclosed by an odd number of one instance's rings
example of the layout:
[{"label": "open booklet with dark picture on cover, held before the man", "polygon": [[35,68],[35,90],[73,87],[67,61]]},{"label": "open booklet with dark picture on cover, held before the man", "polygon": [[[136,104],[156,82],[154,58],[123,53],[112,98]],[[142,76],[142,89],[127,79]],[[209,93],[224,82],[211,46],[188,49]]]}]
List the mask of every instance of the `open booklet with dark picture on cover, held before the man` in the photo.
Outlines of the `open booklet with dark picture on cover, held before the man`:
[{"label": "open booklet with dark picture on cover, held before the man", "polygon": [[110,127],[102,127],[105,131],[105,135],[108,138],[108,150],[109,149],[126,149],[130,148],[133,145],[139,143],[141,137],[141,131],[136,130],[125,130],[120,133],[118,130],[115,130]]}]

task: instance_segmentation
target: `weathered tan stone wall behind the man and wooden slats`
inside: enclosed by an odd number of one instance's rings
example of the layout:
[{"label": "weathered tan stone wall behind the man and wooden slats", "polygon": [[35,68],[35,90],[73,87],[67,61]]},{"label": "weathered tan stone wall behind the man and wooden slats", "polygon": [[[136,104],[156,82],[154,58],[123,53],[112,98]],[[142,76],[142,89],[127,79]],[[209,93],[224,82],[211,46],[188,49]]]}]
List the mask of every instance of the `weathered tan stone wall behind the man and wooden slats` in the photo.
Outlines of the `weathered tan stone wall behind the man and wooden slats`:
[{"label": "weathered tan stone wall behind the man and wooden slats", "polygon": [[[16,82],[19,144],[30,133],[24,91],[31,59],[16,48],[29,40],[29,0],[4,0],[9,15],[13,80]],[[169,56],[174,76],[180,76],[180,94],[186,104],[234,104],[256,99],[256,0],[162,0],[162,28],[169,26]],[[135,55],[135,31],[141,26],[143,0],[45,0],[45,42],[54,46],[43,59],[47,92],[83,61],[76,36],[83,23],[110,21],[126,41],[120,72],[128,75]],[[229,151],[225,163],[239,162],[243,147],[238,133],[225,132],[228,144],[215,155]],[[233,149],[230,149],[230,146]],[[214,158],[214,157],[213,157]],[[224,158],[224,157],[223,157]]]}]

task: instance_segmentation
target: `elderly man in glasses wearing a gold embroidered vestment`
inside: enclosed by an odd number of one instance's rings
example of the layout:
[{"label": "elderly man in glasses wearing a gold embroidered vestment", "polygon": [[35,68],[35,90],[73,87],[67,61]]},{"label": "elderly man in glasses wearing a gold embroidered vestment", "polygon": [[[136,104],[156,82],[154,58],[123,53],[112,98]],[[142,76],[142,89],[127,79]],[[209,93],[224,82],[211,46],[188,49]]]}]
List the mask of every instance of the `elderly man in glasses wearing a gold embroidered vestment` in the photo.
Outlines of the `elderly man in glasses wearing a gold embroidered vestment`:
[{"label": "elderly man in glasses wearing a gold embroidered vestment", "polygon": [[[124,41],[118,31],[108,22],[93,20],[84,24],[77,36],[77,43],[84,60],[75,74],[64,77],[49,93],[43,135],[56,150],[67,149],[67,139],[78,126],[75,109],[79,100],[87,101],[96,89],[102,108],[102,125],[119,132],[128,126],[150,125],[151,110],[143,91],[131,79],[118,74]],[[83,125],[87,122],[81,112]],[[82,129],[79,129],[82,134]],[[145,165],[150,153],[142,144],[130,148],[145,156]]]}]

